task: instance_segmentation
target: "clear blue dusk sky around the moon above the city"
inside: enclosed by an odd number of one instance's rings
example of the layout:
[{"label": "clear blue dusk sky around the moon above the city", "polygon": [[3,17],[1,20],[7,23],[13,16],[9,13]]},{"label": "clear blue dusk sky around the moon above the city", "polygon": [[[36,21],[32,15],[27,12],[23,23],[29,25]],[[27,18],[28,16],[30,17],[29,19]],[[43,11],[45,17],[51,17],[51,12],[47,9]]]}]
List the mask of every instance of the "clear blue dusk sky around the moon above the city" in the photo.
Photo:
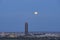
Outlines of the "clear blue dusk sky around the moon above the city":
[{"label": "clear blue dusk sky around the moon above the city", "polygon": [[24,32],[28,18],[29,32],[60,32],[60,0],[0,0],[0,32]]}]

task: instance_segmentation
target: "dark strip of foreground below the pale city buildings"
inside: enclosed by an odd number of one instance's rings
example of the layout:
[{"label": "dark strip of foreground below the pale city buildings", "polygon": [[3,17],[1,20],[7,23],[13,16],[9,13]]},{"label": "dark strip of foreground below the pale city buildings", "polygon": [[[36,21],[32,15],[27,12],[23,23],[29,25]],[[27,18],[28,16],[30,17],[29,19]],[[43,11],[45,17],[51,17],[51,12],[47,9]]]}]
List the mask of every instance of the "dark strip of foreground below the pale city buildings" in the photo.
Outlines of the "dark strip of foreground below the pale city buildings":
[{"label": "dark strip of foreground below the pale city buildings", "polygon": [[0,40],[60,40],[60,37],[17,37],[17,38],[0,38]]}]

